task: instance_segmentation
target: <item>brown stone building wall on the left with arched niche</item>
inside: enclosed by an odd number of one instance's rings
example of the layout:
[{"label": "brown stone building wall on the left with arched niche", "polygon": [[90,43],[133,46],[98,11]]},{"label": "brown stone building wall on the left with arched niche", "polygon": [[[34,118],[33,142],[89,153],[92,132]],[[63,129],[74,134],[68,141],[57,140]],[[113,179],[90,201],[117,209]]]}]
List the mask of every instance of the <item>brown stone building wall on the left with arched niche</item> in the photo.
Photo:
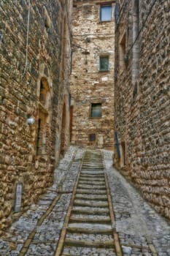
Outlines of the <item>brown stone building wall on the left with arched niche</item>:
[{"label": "brown stone building wall on the left with arched niche", "polygon": [[69,146],[71,0],[0,2],[0,230]]}]

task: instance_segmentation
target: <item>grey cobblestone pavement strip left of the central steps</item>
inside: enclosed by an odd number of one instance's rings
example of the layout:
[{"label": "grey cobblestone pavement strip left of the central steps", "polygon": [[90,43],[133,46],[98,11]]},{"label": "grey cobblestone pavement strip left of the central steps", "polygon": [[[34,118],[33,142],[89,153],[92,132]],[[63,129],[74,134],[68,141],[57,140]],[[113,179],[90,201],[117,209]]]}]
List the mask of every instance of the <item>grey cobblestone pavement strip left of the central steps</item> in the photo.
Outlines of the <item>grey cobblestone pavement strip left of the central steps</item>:
[{"label": "grey cobblestone pavement strip left of the central steps", "polygon": [[53,186],[0,238],[0,256],[54,255],[83,152],[69,148],[55,170]]}]

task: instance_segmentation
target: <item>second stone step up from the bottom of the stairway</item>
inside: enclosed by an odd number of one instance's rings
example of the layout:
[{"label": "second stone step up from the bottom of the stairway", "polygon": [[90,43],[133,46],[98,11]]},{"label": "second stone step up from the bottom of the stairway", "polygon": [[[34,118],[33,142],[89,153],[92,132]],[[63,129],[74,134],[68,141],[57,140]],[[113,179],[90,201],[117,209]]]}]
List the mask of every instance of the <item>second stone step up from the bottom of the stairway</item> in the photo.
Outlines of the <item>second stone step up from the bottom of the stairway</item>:
[{"label": "second stone step up from the bottom of the stairway", "polygon": [[89,224],[89,223],[70,223],[67,227],[69,233],[88,233],[88,234],[112,234],[111,225]]}]

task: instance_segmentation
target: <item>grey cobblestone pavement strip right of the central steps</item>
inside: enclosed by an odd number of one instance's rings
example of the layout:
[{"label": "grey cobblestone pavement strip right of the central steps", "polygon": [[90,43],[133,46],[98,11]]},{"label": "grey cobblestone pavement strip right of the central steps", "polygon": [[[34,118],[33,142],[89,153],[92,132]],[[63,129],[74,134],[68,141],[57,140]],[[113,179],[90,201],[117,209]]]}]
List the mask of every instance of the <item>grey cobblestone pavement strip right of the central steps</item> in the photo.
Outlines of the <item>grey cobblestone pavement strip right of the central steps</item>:
[{"label": "grey cobblestone pavement strip right of the central steps", "polygon": [[112,167],[112,154],[109,151],[104,151],[104,165],[123,255],[169,256],[169,222],[155,213],[139,192]]}]

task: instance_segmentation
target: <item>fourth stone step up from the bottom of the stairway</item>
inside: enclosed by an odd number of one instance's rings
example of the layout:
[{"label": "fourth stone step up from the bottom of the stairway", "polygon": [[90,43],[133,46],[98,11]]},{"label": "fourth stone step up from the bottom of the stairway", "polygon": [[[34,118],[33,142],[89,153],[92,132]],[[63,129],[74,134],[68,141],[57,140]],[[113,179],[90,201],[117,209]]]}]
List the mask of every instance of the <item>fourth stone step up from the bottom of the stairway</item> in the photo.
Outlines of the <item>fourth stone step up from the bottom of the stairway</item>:
[{"label": "fourth stone step up from the bottom of the stairway", "polygon": [[73,206],[72,214],[104,215],[109,216],[109,208]]}]

